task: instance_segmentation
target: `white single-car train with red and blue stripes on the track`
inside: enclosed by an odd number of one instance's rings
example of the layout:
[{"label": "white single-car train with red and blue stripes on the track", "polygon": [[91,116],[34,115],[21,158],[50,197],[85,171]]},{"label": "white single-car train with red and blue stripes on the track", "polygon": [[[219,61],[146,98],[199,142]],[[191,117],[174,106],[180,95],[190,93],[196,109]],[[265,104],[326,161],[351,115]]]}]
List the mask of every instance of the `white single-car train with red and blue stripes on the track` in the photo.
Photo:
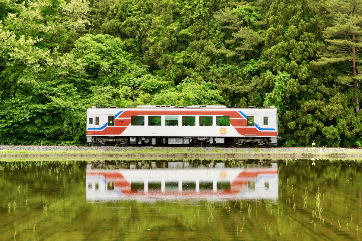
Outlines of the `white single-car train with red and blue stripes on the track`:
[{"label": "white single-car train with red and blue stripes on the track", "polygon": [[87,110],[87,142],[133,145],[195,143],[276,146],[277,109],[138,106]]}]

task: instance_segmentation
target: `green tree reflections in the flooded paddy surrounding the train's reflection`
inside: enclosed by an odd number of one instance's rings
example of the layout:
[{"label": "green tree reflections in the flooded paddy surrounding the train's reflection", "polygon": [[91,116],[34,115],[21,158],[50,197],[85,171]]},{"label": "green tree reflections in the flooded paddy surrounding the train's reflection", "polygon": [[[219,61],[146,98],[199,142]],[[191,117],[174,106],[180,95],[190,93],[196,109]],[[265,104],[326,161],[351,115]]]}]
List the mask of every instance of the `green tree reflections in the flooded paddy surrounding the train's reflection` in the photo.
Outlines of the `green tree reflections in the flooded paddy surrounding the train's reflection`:
[{"label": "green tree reflections in the flooded paddy surrounding the train's reflection", "polygon": [[[135,162],[138,165],[139,161]],[[152,168],[152,160],[140,162],[140,168]],[[188,162],[190,166],[197,164]],[[59,237],[62,230],[66,231],[62,237],[68,240],[156,240],[180,237],[180,232],[188,240],[199,240],[201,235],[215,240],[358,239],[361,162],[314,162],[279,162],[277,202],[156,201],[146,205],[137,201],[87,203],[84,187],[88,162],[2,162],[0,233],[5,240],[12,239],[15,230],[17,238],[29,237],[25,239],[51,239]],[[131,165],[122,160],[109,163],[109,168]],[[203,160],[203,165],[210,163]],[[226,167],[232,165],[232,161],[225,162]],[[235,165],[256,167],[260,162],[237,160]],[[312,211],[317,211],[318,192],[321,219],[312,216]],[[47,205],[47,215],[43,205]]]}]

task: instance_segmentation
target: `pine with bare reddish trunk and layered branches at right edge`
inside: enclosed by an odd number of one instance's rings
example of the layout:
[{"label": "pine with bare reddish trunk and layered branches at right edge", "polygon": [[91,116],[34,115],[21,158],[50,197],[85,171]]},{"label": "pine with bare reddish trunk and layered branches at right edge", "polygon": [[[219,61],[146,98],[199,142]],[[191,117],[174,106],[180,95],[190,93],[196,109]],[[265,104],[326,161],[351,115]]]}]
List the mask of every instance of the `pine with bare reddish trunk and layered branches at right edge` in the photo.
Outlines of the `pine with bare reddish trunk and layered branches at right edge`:
[{"label": "pine with bare reddish trunk and layered branches at right edge", "polygon": [[[362,1],[326,0],[322,3],[331,18],[324,31],[327,50],[320,52],[316,65],[340,63],[338,81],[354,89],[355,112],[359,112],[359,85],[362,80],[359,53],[362,51]],[[347,64],[346,62],[350,62]]]}]

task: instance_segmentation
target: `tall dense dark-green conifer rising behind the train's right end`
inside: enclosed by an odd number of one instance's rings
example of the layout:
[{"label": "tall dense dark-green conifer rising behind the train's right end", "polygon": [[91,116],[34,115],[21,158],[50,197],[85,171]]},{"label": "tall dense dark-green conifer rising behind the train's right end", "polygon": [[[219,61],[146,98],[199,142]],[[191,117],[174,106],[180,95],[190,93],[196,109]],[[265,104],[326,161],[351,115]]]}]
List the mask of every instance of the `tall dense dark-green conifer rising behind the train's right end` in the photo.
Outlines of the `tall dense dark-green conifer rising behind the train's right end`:
[{"label": "tall dense dark-green conifer rising behind the train's right end", "polygon": [[325,120],[317,103],[327,94],[326,72],[311,64],[323,46],[319,33],[324,22],[311,1],[275,0],[266,14],[266,25],[263,56],[267,71],[260,75],[265,104],[279,106],[278,130],[283,139],[310,142],[320,135]]}]

